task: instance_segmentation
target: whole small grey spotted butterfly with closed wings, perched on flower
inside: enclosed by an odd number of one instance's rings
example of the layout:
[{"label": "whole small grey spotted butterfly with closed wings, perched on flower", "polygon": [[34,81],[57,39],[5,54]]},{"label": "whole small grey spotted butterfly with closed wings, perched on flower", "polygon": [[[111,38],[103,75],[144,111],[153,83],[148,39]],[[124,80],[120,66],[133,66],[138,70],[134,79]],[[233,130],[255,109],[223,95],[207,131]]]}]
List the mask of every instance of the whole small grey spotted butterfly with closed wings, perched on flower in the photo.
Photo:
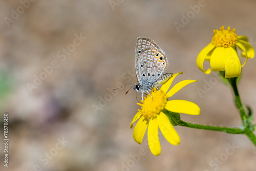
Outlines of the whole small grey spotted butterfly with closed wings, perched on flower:
[{"label": "whole small grey spotted butterfly with closed wings, perched on flower", "polygon": [[159,90],[157,86],[173,76],[172,73],[162,74],[167,62],[164,51],[156,42],[147,37],[138,37],[135,47],[135,71],[138,83],[127,86],[133,86],[131,88],[134,88],[136,92],[141,92],[143,100],[144,93],[151,95],[150,91],[154,87]]}]

